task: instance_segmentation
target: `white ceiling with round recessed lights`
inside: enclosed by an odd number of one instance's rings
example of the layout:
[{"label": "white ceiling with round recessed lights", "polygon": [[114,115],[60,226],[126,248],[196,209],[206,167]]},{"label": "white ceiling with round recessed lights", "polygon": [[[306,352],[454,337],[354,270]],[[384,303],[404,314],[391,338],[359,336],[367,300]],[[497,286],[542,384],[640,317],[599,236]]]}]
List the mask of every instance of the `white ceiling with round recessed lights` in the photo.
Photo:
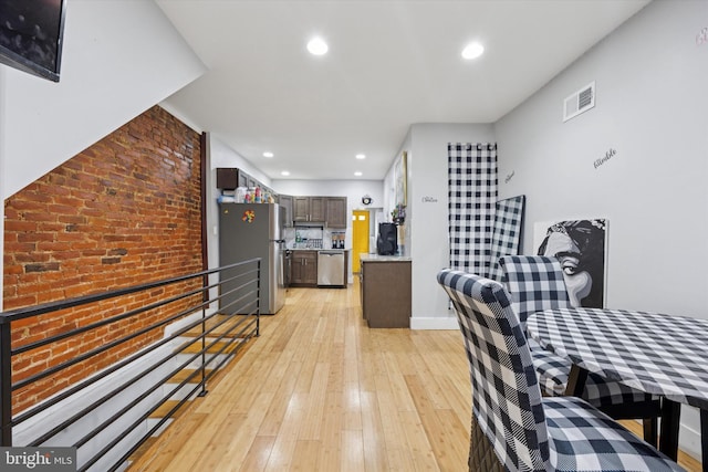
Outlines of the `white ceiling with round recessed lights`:
[{"label": "white ceiling with round recessed lights", "polygon": [[378,180],[412,124],[498,120],[648,1],[156,0],[208,67],[165,104],[272,179]]}]

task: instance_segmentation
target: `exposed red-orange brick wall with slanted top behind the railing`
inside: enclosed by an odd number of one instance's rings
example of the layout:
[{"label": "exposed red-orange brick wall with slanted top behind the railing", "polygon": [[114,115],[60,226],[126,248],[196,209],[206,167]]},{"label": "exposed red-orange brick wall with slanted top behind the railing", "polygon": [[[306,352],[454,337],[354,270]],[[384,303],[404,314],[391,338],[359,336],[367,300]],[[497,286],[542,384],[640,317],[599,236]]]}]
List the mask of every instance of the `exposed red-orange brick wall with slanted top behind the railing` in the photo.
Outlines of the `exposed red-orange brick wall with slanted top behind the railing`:
[{"label": "exposed red-orange brick wall with slanted top behind the railing", "polygon": [[[4,310],[200,271],[199,167],[199,135],[155,106],[7,199]],[[152,296],[133,295],[121,306],[102,303],[13,324],[13,347],[189,286],[195,283],[159,289]],[[171,311],[186,303],[195,301],[178,302]],[[13,363],[13,378],[22,379],[164,316],[165,310],[154,311],[84,335],[81,342],[69,339],[61,348],[28,353]],[[15,397],[15,410],[160,336],[150,333],[100,361],[79,365],[23,391]]]}]

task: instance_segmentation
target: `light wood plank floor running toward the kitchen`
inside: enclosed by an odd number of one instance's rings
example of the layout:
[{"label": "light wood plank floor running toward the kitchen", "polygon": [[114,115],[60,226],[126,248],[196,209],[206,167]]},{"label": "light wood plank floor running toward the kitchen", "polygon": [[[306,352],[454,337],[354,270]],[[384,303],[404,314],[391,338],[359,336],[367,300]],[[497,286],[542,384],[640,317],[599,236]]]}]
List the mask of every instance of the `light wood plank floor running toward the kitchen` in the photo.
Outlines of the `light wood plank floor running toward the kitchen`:
[{"label": "light wood plank floor running toward the kitchen", "polygon": [[131,472],[467,470],[459,332],[369,329],[357,285],[291,289],[249,344]]}]

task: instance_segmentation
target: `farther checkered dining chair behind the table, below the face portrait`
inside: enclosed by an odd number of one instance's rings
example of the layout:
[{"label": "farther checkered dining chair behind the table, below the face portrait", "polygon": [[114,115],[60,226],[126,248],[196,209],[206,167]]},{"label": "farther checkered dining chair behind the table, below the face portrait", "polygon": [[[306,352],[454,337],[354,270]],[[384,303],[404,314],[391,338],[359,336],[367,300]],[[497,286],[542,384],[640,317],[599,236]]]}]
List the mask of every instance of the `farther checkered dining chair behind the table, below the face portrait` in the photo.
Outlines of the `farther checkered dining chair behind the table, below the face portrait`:
[{"label": "farther checkered dining chair behind the table, below the face portrait", "polygon": [[[499,259],[499,265],[522,332],[525,333],[527,317],[535,312],[572,307],[561,263],[556,258],[507,255]],[[571,361],[543,349],[533,339],[529,339],[529,347],[541,391],[548,396],[565,395]],[[643,419],[644,439],[657,444],[660,397],[647,395],[618,381],[608,381],[593,373],[587,375],[581,397],[614,419]]]}]

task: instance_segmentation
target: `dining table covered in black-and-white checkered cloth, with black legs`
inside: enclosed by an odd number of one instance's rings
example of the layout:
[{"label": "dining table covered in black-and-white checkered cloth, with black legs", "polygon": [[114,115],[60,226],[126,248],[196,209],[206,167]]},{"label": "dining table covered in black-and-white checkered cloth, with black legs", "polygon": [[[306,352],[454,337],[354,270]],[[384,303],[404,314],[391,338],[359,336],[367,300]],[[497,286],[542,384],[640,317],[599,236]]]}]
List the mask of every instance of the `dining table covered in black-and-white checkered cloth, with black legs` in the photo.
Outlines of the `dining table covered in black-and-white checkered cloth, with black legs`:
[{"label": "dining table covered in black-and-white checkered cloth, with black legs", "polygon": [[676,460],[680,406],[700,411],[702,470],[708,471],[708,319],[627,310],[555,308],[527,319],[527,335],[568,358],[566,395],[587,373],[662,397],[659,450]]}]

